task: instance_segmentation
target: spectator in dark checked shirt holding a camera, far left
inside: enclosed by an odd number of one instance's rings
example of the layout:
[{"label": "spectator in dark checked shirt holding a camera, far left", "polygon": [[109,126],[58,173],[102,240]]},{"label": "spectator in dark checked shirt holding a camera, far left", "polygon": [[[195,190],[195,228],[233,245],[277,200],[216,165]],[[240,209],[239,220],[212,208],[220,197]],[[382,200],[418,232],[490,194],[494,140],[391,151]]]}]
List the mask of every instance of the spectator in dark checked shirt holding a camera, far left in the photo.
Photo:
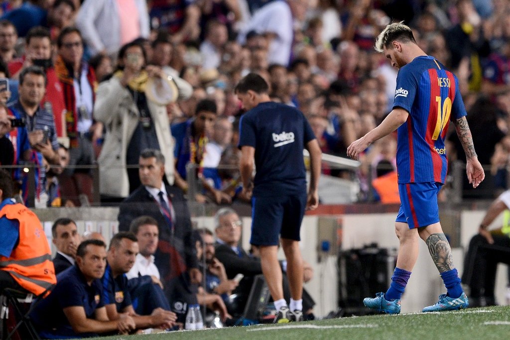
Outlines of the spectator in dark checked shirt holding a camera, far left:
[{"label": "spectator in dark checked shirt holding a camera, far left", "polygon": [[[25,121],[24,127],[18,127],[18,133],[20,133],[20,129],[25,128],[28,132],[28,140],[32,149],[29,161],[36,164],[36,207],[46,207],[47,201],[47,194],[44,189],[43,158],[52,165],[59,165],[60,162],[57,153],[59,143],[53,114],[44,110],[39,104],[44,97],[45,89],[46,75],[44,70],[39,66],[25,68],[19,74],[19,99],[10,107],[16,118]],[[19,153],[25,151],[27,150],[19,150]],[[28,197],[27,178],[27,175],[22,178],[24,199]]]}]

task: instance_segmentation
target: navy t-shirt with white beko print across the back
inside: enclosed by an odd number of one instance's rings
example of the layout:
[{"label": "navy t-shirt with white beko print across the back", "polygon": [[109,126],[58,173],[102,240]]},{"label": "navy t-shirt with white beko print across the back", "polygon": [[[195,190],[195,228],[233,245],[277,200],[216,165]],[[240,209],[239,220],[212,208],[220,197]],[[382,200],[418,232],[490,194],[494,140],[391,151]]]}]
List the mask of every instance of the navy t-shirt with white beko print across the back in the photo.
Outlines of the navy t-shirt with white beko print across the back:
[{"label": "navy t-shirt with white beko print across the back", "polygon": [[239,121],[239,147],[255,148],[253,196],[287,196],[306,190],[303,148],[315,135],[296,108],[262,102]]}]

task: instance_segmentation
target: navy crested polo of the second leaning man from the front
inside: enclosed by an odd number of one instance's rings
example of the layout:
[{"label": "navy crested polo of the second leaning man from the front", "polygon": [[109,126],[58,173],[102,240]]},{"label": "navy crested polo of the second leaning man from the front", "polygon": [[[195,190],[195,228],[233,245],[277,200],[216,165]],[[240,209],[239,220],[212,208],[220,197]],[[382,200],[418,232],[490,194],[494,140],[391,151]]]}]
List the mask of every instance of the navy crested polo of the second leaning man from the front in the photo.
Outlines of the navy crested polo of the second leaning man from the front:
[{"label": "navy crested polo of the second leaning man from the front", "polygon": [[115,303],[117,312],[131,305],[131,295],[127,288],[127,277],[125,274],[113,277],[112,268],[110,265],[106,266],[105,275],[101,279],[103,283],[103,292],[105,294],[105,305]]}]

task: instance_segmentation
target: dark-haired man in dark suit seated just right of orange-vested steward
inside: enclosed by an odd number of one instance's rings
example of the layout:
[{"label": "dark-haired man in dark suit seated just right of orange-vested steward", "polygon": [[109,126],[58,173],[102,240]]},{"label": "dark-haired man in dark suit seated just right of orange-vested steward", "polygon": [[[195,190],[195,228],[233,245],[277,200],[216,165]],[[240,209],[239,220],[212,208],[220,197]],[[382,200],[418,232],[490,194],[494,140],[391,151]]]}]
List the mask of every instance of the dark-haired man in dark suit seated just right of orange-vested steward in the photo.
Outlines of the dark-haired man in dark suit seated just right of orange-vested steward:
[{"label": "dark-haired man in dark suit seated just right of orange-vested steward", "polygon": [[81,238],[76,223],[69,218],[59,218],[52,226],[53,244],[57,247],[57,254],[53,259],[55,274],[63,272],[74,265],[76,250]]}]

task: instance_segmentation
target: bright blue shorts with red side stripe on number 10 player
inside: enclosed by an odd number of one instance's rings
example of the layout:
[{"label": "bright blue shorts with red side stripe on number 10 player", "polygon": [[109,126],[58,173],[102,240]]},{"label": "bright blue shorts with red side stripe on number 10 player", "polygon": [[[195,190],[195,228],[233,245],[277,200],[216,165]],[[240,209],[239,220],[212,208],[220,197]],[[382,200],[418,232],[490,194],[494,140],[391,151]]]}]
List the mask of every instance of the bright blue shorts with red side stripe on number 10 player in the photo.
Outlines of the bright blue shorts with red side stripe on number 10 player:
[{"label": "bright blue shorts with red side stripe on number 10 player", "polygon": [[441,186],[438,182],[399,184],[400,209],[395,221],[409,224],[409,229],[438,223]]}]

